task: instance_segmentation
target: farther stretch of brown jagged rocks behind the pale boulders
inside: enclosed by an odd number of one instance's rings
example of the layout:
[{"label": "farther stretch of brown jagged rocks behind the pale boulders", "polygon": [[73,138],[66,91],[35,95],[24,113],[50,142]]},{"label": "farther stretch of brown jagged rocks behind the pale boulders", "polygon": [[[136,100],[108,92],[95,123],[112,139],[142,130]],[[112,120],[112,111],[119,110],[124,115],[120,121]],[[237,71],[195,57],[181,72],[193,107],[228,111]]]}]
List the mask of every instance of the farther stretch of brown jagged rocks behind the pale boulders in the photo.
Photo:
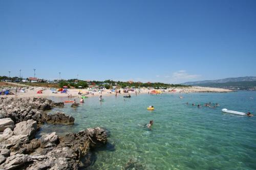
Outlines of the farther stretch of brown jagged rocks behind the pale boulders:
[{"label": "farther stretch of brown jagged rocks behind the pale boulders", "polygon": [[74,117],[72,116],[67,116],[64,113],[48,115],[44,112],[44,110],[51,109],[55,105],[61,106],[63,103],[54,103],[45,98],[0,97],[0,117],[11,118],[14,124],[29,119],[33,119],[37,123],[73,124]]}]

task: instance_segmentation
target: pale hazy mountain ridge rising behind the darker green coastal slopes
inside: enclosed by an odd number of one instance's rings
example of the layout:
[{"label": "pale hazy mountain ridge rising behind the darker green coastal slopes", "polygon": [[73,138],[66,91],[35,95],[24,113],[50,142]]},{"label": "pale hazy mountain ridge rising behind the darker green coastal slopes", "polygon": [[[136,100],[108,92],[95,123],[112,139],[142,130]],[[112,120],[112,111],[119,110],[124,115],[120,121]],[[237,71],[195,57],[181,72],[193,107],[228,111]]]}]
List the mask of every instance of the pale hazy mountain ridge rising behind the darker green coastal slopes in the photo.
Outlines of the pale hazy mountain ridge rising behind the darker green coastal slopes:
[{"label": "pale hazy mountain ridge rising behind the darker green coastal slopes", "polygon": [[227,82],[243,82],[243,81],[256,81],[256,77],[247,76],[247,77],[237,77],[237,78],[226,78],[226,79],[218,79],[218,80],[203,80],[203,81],[196,81],[196,82],[186,82],[182,83],[183,85],[200,85],[206,83],[227,83]]}]

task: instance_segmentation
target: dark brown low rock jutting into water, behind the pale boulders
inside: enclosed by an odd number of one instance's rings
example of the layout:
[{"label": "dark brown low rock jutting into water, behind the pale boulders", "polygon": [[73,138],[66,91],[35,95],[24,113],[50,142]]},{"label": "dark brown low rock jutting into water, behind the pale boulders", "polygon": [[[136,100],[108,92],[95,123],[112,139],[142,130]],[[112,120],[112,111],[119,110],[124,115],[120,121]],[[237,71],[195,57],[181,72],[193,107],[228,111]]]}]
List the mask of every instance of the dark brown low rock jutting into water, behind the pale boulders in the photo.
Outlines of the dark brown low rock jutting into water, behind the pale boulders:
[{"label": "dark brown low rock jutting into water, behind the pale boulders", "polygon": [[75,118],[61,112],[46,115],[46,122],[51,124],[74,124]]}]

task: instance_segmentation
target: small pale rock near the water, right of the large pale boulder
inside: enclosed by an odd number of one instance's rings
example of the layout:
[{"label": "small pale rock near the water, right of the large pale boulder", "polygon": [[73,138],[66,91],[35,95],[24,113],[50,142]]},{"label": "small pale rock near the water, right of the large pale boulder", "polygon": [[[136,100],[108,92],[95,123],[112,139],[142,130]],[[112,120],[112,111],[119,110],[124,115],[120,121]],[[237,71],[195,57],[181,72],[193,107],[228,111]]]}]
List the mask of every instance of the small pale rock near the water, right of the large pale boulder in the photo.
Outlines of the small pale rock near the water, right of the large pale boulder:
[{"label": "small pale rock near the water, right of the large pale boulder", "polygon": [[41,148],[55,147],[59,143],[59,137],[56,132],[48,133],[40,137],[40,143]]}]

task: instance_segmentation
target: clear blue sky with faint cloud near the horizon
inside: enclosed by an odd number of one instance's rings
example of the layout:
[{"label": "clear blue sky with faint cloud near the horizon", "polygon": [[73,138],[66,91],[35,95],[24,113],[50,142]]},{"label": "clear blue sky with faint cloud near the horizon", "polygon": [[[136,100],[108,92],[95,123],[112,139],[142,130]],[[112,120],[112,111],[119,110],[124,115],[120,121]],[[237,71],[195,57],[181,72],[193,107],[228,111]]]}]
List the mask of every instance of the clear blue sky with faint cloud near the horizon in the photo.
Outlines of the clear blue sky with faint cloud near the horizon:
[{"label": "clear blue sky with faint cloud near the horizon", "polygon": [[0,75],[182,83],[256,76],[256,1],[0,1]]}]

